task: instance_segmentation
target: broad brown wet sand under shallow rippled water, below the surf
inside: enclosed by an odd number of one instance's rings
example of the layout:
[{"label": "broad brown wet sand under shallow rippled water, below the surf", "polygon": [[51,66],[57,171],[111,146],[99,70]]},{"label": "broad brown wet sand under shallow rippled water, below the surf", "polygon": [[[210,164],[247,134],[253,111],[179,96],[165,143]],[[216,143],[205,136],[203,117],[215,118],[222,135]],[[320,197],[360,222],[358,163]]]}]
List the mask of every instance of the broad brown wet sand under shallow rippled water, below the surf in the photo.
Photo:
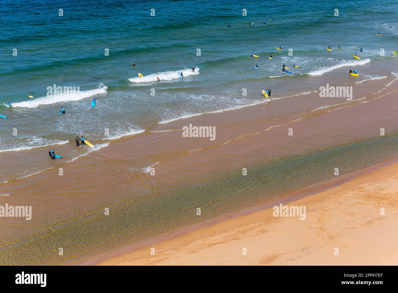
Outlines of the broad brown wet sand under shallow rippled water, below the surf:
[{"label": "broad brown wet sand under shallow rippled water, below the surf", "polygon": [[[10,264],[80,264],[130,243],[333,180],[335,167],[347,175],[396,157],[398,83],[392,81],[394,77],[353,85],[356,94],[348,103],[310,93],[158,124],[70,163],[51,162],[47,149],[27,151],[27,161],[19,157],[22,152],[0,154],[5,164],[16,159],[16,169],[37,157],[43,164],[55,164],[0,184],[0,194],[9,194],[1,197],[2,203],[33,206],[30,221],[2,218],[0,259]],[[216,140],[183,138],[181,129],[189,124],[216,126]],[[289,128],[293,136],[287,135]],[[380,128],[386,136],[380,136]],[[367,151],[379,138],[385,145]],[[322,163],[334,156],[339,161],[325,168]],[[279,167],[285,162],[291,169]],[[154,176],[145,172],[152,165]],[[264,171],[264,165],[272,168]],[[247,179],[242,179],[243,168],[248,169]],[[197,206],[206,211],[200,220]],[[109,217],[102,216],[105,208],[110,209]],[[57,256],[59,247],[68,251],[64,258]]]}]

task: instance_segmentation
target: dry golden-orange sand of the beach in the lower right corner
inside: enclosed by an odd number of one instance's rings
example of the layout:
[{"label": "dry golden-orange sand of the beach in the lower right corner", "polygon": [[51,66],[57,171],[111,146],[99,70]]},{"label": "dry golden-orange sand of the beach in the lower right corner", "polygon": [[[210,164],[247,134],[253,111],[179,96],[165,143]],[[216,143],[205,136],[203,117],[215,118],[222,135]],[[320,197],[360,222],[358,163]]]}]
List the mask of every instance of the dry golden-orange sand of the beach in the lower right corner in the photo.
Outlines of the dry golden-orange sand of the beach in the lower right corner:
[{"label": "dry golden-orange sand of the beach in the lower right corner", "polygon": [[99,265],[397,265],[397,196],[394,163],[287,204],[306,206],[305,220],[268,208]]}]

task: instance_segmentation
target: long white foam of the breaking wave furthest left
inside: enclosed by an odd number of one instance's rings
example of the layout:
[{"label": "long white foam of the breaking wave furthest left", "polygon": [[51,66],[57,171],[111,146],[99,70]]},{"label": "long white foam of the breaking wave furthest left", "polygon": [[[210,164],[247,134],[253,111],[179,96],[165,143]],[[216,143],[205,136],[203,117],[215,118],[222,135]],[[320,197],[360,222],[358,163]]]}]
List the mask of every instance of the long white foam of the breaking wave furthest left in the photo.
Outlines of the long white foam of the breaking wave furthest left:
[{"label": "long white foam of the breaking wave furthest left", "polygon": [[41,98],[35,98],[33,100],[12,103],[13,107],[20,108],[37,108],[40,105],[50,105],[59,102],[78,101],[96,94],[103,94],[107,91],[107,87],[96,88],[94,90],[82,90],[76,92],[66,92],[61,94],[54,94],[49,96],[42,96]]}]

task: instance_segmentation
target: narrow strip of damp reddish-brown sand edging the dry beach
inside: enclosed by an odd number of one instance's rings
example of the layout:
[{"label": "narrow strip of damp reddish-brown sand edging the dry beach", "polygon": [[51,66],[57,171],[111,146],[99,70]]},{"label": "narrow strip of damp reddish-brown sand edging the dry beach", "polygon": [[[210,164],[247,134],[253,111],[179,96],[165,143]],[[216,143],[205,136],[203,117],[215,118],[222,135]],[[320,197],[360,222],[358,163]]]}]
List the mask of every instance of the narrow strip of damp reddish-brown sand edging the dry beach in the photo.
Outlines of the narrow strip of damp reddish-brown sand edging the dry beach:
[{"label": "narrow strip of damp reddish-brown sand edging the dry beach", "polygon": [[395,157],[394,159],[390,159],[386,162],[380,163],[378,165],[375,165],[375,166],[372,166],[369,168],[361,169],[361,170],[355,171],[353,173],[343,175],[343,177],[341,177],[337,180],[334,180],[334,181],[326,181],[326,182],[317,183],[317,184],[311,185],[309,187],[306,187],[302,190],[295,191],[293,193],[289,193],[287,195],[283,195],[283,196],[277,197],[275,199],[271,199],[271,200],[261,203],[259,205],[252,206],[250,208],[243,208],[242,210],[238,210],[238,211],[230,213],[230,214],[224,214],[221,216],[217,216],[206,223],[195,224],[193,226],[189,226],[187,228],[171,232],[167,235],[154,237],[152,239],[146,240],[144,242],[140,242],[138,244],[131,244],[131,245],[125,246],[124,248],[121,248],[121,249],[118,249],[118,250],[115,250],[112,252],[108,252],[106,254],[99,255],[96,258],[93,258],[91,260],[86,260],[78,265],[101,265],[101,263],[106,263],[108,260],[111,260],[113,258],[118,258],[118,257],[126,255],[126,254],[133,253],[133,252],[140,250],[144,247],[148,247],[149,245],[160,244],[160,243],[166,242],[168,240],[177,239],[179,237],[183,237],[185,234],[192,233],[192,232],[194,233],[197,230],[200,230],[200,229],[203,229],[206,227],[210,227],[213,225],[217,225],[222,222],[226,222],[232,218],[237,218],[240,216],[253,214],[258,211],[264,211],[264,210],[271,208],[274,205],[279,205],[279,203],[282,203],[284,205],[288,204],[288,203],[293,203],[295,201],[299,201],[300,199],[304,199],[306,197],[311,197],[312,195],[317,195],[319,193],[329,191],[331,189],[334,189],[336,187],[339,187],[341,185],[349,183],[350,181],[352,181],[354,179],[360,178],[360,177],[366,175],[367,173],[377,171],[379,169],[383,169],[385,167],[388,167],[388,166],[394,165],[394,164],[398,165],[398,157]]}]

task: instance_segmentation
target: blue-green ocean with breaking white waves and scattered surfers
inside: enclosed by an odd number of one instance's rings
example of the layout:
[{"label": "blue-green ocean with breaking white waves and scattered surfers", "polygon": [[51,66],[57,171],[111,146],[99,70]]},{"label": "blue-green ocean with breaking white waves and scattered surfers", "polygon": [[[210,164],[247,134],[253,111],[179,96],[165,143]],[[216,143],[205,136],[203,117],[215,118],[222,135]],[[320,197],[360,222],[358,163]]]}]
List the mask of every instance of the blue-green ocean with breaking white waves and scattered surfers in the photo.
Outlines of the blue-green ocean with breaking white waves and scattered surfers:
[{"label": "blue-green ocean with breaking white waves and scattered surfers", "polygon": [[[331,80],[346,84],[353,68],[361,74],[358,81],[378,79],[385,70],[372,64],[388,67],[397,57],[391,53],[397,49],[396,1],[0,4],[0,114],[8,117],[0,120],[0,152],[66,144],[76,135],[90,141],[133,135],[157,123],[263,102],[261,89],[283,98]],[[369,52],[359,52],[361,47]],[[281,72],[283,63],[300,67],[288,75]],[[48,96],[53,85],[80,92]],[[61,107],[64,116],[58,116]]]}]

